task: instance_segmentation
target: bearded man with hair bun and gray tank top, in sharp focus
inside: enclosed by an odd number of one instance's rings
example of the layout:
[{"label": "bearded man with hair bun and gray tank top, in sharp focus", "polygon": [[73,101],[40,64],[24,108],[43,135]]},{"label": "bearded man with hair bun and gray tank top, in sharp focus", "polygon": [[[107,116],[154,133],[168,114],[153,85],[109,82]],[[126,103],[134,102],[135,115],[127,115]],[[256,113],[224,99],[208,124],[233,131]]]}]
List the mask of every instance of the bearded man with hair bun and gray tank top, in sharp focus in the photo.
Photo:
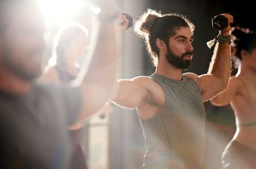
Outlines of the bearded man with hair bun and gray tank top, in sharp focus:
[{"label": "bearded man with hair bun and gray tank top, in sharp focus", "polygon": [[[222,15],[233,22],[233,16]],[[145,40],[156,72],[119,79],[113,102],[137,111],[145,138],[141,169],[199,169],[205,145],[203,102],[227,87],[231,26],[219,32],[210,71],[200,76],[182,74],[193,57],[195,25],[188,18],[147,10],[134,31]]]}]

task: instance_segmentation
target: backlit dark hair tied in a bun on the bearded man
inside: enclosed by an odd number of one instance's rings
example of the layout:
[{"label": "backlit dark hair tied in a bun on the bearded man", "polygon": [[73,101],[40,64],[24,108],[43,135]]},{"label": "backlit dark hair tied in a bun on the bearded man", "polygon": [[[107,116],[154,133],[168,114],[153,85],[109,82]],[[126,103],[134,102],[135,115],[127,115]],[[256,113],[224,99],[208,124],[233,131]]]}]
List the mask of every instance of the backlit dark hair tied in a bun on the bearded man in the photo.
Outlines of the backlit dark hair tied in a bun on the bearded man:
[{"label": "backlit dark hair tied in a bun on the bearded man", "polygon": [[182,14],[177,13],[160,14],[160,12],[148,9],[137,20],[134,32],[144,39],[154,66],[156,66],[159,56],[156,39],[159,38],[168,45],[169,37],[175,35],[175,31],[180,27],[189,27],[192,35],[195,31],[195,25]]}]

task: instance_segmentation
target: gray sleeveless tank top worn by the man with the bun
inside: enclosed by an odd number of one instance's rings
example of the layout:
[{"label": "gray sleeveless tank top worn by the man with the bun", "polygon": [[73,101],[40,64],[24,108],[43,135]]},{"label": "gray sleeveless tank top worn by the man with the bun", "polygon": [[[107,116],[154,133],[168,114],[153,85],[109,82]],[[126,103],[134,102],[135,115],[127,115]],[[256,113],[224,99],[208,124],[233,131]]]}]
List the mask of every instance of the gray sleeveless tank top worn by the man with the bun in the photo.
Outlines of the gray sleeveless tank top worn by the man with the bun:
[{"label": "gray sleeveless tank top worn by the man with the bun", "polygon": [[205,108],[197,84],[184,75],[182,81],[150,77],[162,86],[165,104],[154,117],[139,118],[146,150],[141,168],[201,168]]}]

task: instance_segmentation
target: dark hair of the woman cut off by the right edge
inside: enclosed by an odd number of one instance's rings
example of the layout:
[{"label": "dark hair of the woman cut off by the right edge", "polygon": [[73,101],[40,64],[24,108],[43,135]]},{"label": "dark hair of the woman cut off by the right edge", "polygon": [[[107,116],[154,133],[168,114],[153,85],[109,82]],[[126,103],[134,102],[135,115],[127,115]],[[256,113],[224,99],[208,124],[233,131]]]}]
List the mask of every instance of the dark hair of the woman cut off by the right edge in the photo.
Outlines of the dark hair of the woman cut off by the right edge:
[{"label": "dark hair of the woman cut off by the right edge", "polygon": [[236,48],[236,57],[242,60],[241,50],[251,53],[256,48],[256,33],[248,28],[236,27],[232,31],[232,35],[235,37],[233,43]]}]

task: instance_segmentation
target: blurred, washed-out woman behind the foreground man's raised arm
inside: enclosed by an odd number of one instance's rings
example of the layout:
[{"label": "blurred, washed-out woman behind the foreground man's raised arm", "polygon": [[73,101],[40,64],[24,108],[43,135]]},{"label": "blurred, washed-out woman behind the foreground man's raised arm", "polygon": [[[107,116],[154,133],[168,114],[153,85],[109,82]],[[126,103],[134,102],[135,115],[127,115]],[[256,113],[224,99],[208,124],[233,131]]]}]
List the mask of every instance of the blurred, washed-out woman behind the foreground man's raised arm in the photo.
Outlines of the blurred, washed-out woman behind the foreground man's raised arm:
[{"label": "blurred, washed-out woman behind the foreground man's raised arm", "polygon": [[[125,31],[128,26],[126,16],[120,15],[118,22],[122,23],[120,31]],[[48,60],[48,65],[40,76],[41,81],[49,83],[70,83],[76,79],[81,69],[81,63],[86,60],[86,53],[89,50],[89,32],[79,22],[69,22],[59,29],[53,43],[53,56]],[[104,105],[104,109],[109,104]],[[104,110],[103,108],[100,111]],[[86,152],[83,151],[81,140],[83,139],[84,122],[69,127],[74,146],[72,157],[72,168],[87,168]]]}]

